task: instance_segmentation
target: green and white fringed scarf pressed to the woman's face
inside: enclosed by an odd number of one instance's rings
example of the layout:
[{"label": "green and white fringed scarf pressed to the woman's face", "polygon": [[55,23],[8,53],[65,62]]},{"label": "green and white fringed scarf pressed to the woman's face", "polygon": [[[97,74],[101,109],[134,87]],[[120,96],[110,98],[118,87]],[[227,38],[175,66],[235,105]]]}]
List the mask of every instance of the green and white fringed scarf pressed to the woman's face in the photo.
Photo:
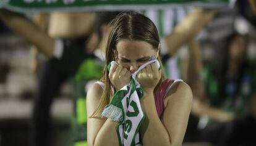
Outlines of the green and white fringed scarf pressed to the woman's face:
[{"label": "green and white fringed scarf pressed to the woman's face", "polygon": [[[143,90],[136,79],[136,75],[140,70],[154,62],[157,62],[158,68],[160,68],[160,63],[156,59],[143,64],[132,74],[130,83],[126,84],[126,86],[122,87],[122,89],[114,94],[111,102],[106,105],[101,113],[101,115],[106,118],[118,121],[119,124],[116,127],[116,131],[119,145],[142,145],[142,142],[140,142],[139,129],[144,120],[144,114],[140,105]],[[113,63],[116,62],[111,62],[110,65]]]}]

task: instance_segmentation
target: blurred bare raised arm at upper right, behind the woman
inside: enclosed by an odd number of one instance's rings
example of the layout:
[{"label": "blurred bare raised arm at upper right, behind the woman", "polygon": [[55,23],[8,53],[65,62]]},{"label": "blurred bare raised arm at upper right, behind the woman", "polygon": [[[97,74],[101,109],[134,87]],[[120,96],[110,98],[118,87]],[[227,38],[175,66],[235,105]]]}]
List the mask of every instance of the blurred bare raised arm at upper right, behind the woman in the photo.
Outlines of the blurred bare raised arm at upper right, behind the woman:
[{"label": "blurred bare raised arm at upper right, behind the woman", "polygon": [[175,54],[179,47],[194,38],[215,14],[215,9],[197,8],[187,15],[187,17],[174,28],[173,32],[164,38],[169,55]]}]

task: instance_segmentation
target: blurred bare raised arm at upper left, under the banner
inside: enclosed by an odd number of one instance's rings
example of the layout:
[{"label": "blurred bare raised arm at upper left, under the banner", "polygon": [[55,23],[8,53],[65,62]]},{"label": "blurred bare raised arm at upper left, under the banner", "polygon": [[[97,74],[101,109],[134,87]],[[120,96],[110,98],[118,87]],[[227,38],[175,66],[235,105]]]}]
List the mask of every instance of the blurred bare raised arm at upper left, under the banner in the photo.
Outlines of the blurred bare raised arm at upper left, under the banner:
[{"label": "blurred bare raised arm at upper left, under the banner", "polygon": [[32,20],[6,9],[0,9],[0,18],[14,33],[35,45],[46,57],[53,56],[55,40],[36,26]]}]

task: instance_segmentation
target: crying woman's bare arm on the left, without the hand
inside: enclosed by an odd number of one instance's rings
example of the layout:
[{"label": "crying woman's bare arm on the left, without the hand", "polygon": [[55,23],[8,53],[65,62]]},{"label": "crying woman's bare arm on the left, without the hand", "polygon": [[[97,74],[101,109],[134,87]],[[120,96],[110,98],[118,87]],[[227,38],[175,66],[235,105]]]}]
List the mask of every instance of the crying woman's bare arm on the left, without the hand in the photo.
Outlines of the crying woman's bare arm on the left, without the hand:
[{"label": "crying woman's bare arm on the left, without the hand", "polygon": [[87,92],[87,140],[88,145],[119,145],[116,126],[117,123],[106,118],[89,118],[96,109],[102,87],[95,83]]}]

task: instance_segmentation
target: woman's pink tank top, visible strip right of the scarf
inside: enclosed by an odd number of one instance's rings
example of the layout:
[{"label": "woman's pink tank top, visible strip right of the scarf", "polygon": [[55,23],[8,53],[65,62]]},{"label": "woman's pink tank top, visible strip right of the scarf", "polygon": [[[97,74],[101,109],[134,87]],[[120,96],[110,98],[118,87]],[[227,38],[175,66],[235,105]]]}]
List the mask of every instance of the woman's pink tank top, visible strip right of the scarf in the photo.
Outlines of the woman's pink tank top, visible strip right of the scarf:
[{"label": "woman's pink tank top, visible strip right of the scarf", "polygon": [[164,79],[163,83],[158,87],[155,92],[155,104],[158,117],[160,118],[164,111],[164,98],[167,94],[169,87],[173,84],[173,79]]}]

